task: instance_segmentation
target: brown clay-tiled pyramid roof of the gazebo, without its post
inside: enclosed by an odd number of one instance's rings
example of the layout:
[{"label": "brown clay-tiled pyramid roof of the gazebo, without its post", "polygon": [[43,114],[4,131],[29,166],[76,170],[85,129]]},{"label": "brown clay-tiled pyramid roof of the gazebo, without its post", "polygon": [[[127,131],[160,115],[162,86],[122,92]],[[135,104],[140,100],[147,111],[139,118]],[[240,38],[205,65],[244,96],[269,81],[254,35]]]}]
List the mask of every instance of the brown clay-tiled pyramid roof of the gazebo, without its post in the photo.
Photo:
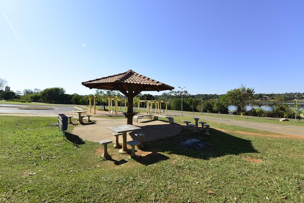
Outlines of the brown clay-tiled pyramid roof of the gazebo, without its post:
[{"label": "brown clay-tiled pyramid roof of the gazebo, without its post", "polygon": [[129,90],[130,85],[139,91],[172,90],[174,87],[160,83],[146,76],[140,75],[133,70],[111,75],[82,83],[84,86],[108,90]]}]

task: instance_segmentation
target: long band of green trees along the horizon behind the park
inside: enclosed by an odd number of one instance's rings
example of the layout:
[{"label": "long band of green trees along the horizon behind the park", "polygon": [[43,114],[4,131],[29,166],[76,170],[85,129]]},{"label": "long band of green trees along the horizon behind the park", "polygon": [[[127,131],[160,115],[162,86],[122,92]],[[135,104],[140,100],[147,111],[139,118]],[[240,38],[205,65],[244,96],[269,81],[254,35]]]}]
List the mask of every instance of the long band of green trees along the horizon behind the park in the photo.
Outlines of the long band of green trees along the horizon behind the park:
[{"label": "long band of green trees along the horizon behind the park", "polygon": [[[79,95],[74,93],[72,95],[66,94],[65,89],[62,87],[52,87],[44,90],[40,89],[24,89],[20,91],[11,91],[10,87],[6,85],[7,82],[0,79],[0,99],[6,101],[19,101],[19,102],[44,102],[55,104],[81,104],[88,105],[88,95]],[[94,96],[91,94],[90,96]],[[95,96],[118,96],[123,97],[118,91],[101,90],[97,89]],[[247,88],[241,85],[239,88],[229,90],[224,95],[217,94],[197,94],[190,95],[185,91],[170,91],[163,93],[162,95],[152,96],[151,94],[138,94],[135,97],[136,100],[163,100],[169,101],[168,109],[182,110],[183,96],[183,110],[194,112],[208,112],[208,113],[234,113],[238,115],[252,115],[252,116],[267,116],[278,118],[290,118],[295,114],[295,111],[299,111],[300,115],[301,105],[292,109],[290,105],[287,105],[287,101],[303,100],[304,93],[284,93],[284,94],[254,94],[253,88]],[[264,111],[259,107],[252,108],[247,111],[246,106],[258,106],[258,102],[269,102],[270,111]],[[125,101],[120,102],[118,105],[125,105]],[[97,105],[108,105],[107,99],[97,99]],[[137,102],[135,102],[135,106]],[[140,103],[141,107],[144,107],[144,103]],[[235,106],[236,111],[230,112],[228,107]]]}]

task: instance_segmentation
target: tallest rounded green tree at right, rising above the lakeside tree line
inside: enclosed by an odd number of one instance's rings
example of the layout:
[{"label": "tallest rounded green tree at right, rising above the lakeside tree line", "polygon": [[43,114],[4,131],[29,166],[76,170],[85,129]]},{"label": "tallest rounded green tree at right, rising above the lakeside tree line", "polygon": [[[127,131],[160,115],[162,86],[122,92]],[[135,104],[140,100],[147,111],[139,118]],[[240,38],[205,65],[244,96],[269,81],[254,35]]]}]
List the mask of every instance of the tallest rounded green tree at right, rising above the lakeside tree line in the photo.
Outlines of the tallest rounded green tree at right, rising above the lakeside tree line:
[{"label": "tallest rounded green tree at right, rising above the lakeside tree line", "polygon": [[236,113],[240,115],[241,112],[246,111],[246,101],[251,99],[253,93],[253,88],[246,88],[244,85],[241,85],[237,89],[228,91],[224,96],[224,100],[228,105],[234,105]]}]

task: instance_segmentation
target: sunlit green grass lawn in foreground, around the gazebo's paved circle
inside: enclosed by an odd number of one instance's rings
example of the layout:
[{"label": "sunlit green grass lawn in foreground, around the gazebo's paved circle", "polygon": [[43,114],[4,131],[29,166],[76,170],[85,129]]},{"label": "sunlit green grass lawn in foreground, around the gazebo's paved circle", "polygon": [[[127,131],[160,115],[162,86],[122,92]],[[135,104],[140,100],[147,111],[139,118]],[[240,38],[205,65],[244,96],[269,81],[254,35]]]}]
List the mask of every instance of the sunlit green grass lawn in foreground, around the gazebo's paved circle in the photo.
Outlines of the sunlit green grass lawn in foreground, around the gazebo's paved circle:
[{"label": "sunlit green grass lawn in foreground, around the gazebo's paved circle", "polygon": [[[68,132],[64,138],[57,122],[0,116],[0,203],[304,202],[303,139],[208,122],[225,132],[212,128],[206,136],[183,128],[146,143],[135,160],[112,143],[113,160],[104,160],[99,143]],[[205,148],[184,148],[187,138]]]}]

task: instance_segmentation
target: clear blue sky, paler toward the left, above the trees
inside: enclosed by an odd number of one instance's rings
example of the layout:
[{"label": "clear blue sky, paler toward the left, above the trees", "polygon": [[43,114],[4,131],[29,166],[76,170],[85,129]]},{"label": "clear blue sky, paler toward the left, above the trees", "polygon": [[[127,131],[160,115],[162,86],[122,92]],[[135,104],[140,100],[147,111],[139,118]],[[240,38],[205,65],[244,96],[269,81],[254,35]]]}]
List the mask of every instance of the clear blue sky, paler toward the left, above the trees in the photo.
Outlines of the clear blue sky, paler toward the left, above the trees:
[{"label": "clear blue sky, paler toward the left, above the trees", "polygon": [[[189,94],[304,92],[304,0],[0,0],[12,91],[129,69]],[[152,95],[163,92],[146,92]]]}]

